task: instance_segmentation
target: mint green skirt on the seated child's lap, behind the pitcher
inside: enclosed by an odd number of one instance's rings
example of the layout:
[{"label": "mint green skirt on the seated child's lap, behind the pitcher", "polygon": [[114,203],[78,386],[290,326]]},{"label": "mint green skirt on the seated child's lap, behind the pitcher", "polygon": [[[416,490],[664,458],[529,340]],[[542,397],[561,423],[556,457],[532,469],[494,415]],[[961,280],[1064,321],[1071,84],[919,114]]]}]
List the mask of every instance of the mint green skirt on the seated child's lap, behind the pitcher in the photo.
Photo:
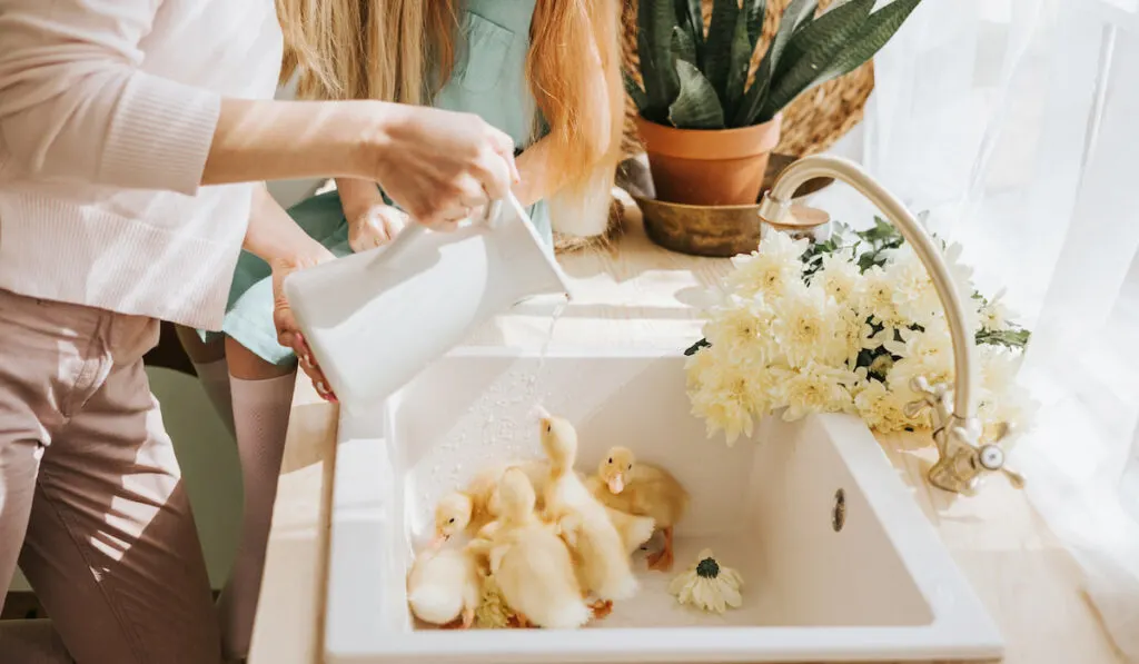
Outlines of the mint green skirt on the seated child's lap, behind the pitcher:
[{"label": "mint green skirt on the seated child's lap, behind the pitcher", "polygon": [[[288,213],[309,237],[335,256],[352,253],[349,246],[349,223],[344,219],[341,197],[336,191],[306,198],[290,207]],[[552,252],[554,238],[546,203],[532,206],[530,214],[539,237],[543,238]],[[277,343],[272,270],[269,269],[269,263],[248,252],[241,252],[233,271],[233,285],[229,289],[222,331],[198,330],[198,336],[206,343],[228,336],[272,364],[289,366],[296,362],[293,350]]]}]

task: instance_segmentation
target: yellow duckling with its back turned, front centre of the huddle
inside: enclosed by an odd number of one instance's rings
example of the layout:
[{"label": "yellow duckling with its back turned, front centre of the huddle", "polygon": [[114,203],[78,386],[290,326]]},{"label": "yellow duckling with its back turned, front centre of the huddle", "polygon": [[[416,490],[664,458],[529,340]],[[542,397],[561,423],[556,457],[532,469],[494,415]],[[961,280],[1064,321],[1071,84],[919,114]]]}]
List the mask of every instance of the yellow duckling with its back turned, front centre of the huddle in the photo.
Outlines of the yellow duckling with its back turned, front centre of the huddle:
[{"label": "yellow duckling with its back turned, front centre of the huddle", "polygon": [[499,520],[470,543],[490,560],[490,571],[518,624],[572,629],[592,616],[582,599],[573,558],[549,524],[534,514],[534,487],[519,468],[499,484]]}]

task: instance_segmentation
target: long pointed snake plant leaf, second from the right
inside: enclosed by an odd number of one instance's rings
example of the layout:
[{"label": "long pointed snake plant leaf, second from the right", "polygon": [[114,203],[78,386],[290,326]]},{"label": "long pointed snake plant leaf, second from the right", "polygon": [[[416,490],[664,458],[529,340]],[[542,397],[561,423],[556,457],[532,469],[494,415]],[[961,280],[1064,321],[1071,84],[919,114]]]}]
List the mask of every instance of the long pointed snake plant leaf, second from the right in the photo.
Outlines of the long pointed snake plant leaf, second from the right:
[{"label": "long pointed snake plant leaf, second from the right", "polygon": [[[767,121],[792,99],[810,88],[845,44],[858,34],[870,14],[875,0],[850,0],[816,18],[795,34],[787,47],[788,59],[802,54],[788,65],[785,74],[772,77],[771,92],[760,112]],[[794,50],[793,50],[794,49]]]}]

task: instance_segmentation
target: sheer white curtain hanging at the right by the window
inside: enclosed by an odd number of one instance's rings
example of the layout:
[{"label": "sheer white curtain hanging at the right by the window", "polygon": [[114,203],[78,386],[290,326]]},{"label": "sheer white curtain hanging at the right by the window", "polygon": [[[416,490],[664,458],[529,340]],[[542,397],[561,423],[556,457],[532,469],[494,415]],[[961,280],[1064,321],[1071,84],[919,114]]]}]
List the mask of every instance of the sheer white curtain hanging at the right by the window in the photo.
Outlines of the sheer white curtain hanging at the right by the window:
[{"label": "sheer white curtain hanging at the right by the window", "polygon": [[[1034,331],[1010,465],[1139,662],[1139,0],[924,0],[876,59],[863,163]],[[841,197],[837,192],[834,196]],[[839,216],[860,204],[833,202]],[[993,478],[999,482],[999,478]]]}]

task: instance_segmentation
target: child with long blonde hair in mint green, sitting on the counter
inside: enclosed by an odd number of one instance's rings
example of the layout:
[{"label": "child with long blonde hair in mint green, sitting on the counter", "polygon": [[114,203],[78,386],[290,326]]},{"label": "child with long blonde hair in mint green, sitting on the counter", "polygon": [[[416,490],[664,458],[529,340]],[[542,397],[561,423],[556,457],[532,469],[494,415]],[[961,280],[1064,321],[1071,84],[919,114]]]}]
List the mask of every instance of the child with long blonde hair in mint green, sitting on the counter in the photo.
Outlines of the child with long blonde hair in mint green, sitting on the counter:
[{"label": "child with long blonde hair in mint green, sitting on the counter", "polygon": [[[555,229],[589,236],[605,228],[624,113],[615,0],[277,5],[282,80],[296,74],[300,97],[477,114],[514,139],[514,191],[550,251]],[[407,221],[376,182],[347,178],[289,214],[335,255],[380,246]],[[272,313],[270,270],[246,254],[230,293],[224,350],[208,335],[181,335],[215,405],[232,418],[243,466],[243,535],[220,607],[229,656],[248,647],[293,394],[296,358],[277,343]],[[335,399],[327,386],[317,388]]]}]

